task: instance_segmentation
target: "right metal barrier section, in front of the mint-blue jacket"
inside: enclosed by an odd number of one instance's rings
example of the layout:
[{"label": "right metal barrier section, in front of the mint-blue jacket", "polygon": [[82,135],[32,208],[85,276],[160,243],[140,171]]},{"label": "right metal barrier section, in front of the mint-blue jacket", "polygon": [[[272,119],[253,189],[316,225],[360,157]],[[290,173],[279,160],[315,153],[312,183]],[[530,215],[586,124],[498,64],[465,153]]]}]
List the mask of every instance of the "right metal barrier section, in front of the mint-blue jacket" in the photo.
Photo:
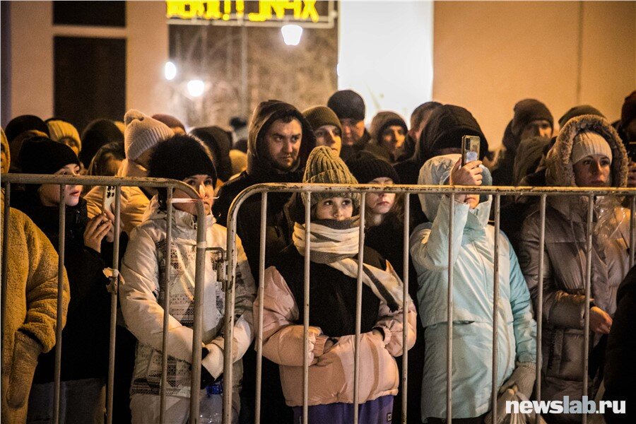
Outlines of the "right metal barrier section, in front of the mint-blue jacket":
[{"label": "right metal barrier section, in front of the mint-blue jacket", "polygon": [[[404,302],[402,305],[404,311],[404,323],[406,324],[406,316],[408,311],[408,211],[411,194],[447,194],[450,196],[451,204],[454,204],[454,198],[456,194],[485,194],[494,196],[494,215],[495,215],[495,252],[494,252],[494,290],[493,290],[493,384],[492,384],[492,416],[493,422],[497,422],[497,310],[499,301],[499,260],[498,252],[500,245],[500,205],[501,196],[539,196],[539,209],[540,209],[540,234],[539,234],[539,259],[538,259],[538,302],[536,322],[537,322],[537,351],[536,351],[536,398],[541,399],[541,336],[543,327],[543,266],[544,266],[544,248],[545,248],[545,231],[546,231],[546,199],[547,196],[587,196],[589,199],[587,206],[587,245],[586,245],[586,257],[587,257],[587,269],[585,280],[585,298],[586,305],[584,312],[584,363],[583,367],[583,396],[587,395],[587,358],[589,354],[589,302],[590,302],[590,285],[591,285],[591,252],[592,252],[592,218],[594,208],[595,196],[630,196],[630,250],[629,250],[629,264],[630,268],[634,264],[635,260],[635,245],[636,245],[636,226],[635,226],[635,211],[636,211],[636,189],[623,189],[623,188],[602,188],[593,189],[585,187],[461,187],[461,186],[438,186],[438,185],[378,185],[378,184],[256,184],[252,187],[245,189],[238,194],[228,212],[228,290],[225,293],[225,358],[224,358],[224,387],[223,387],[223,423],[229,424],[232,422],[232,367],[231,365],[231,352],[232,352],[232,328],[234,326],[234,317],[232,310],[234,307],[235,297],[235,266],[237,264],[237,251],[236,251],[236,235],[237,235],[237,213],[240,206],[250,196],[255,194],[261,194],[261,228],[260,228],[260,250],[259,250],[259,310],[258,316],[255,317],[258,322],[258,329],[256,336],[257,347],[257,381],[256,381],[256,405],[255,405],[255,423],[260,423],[261,415],[261,371],[262,371],[262,347],[263,347],[263,300],[264,300],[264,265],[265,265],[265,247],[266,247],[266,210],[267,210],[267,194],[272,192],[289,192],[289,193],[306,193],[305,199],[305,298],[304,298],[304,337],[305,337],[305,349],[303,359],[303,405],[302,416],[303,423],[307,424],[307,408],[308,408],[308,358],[309,358],[309,343],[308,343],[308,331],[309,331],[309,283],[310,283],[310,197],[312,193],[333,192],[342,193],[360,193],[360,240],[358,246],[358,255],[360,260],[358,261],[358,281],[357,281],[357,303],[356,303],[356,322],[355,322],[355,362],[354,362],[354,390],[353,399],[354,404],[359,405],[359,380],[360,380],[360,307],[361,307],[361,292],[362,292],[362,263],[363,263],[363,247],[364,247],[364,227],[365,227],[365,194],[369,192],[384,192],[384,193],[396,193],[404,194]],[[454,220],[454,208],[449,209],[449,264],[452,263],[452,248],[453,248],[453,220]],[[453,268],[448,267],[448,298],[447,298],[447,320],[449,323],[453,321]],[[402,423],[406,423],[407,418],[407,381],[408,381],[408,350],[406,349],[406,338],[408,336],[408,326],[404,327],[403,332],[403,347],[402,355],[403,366],[401,376],[401,391],[402,391]],[[447,422],[452,423],[452,325],[447,326]],[[358,424],[358,408],[353,408],[354,423]],[[536,422],[539,423],[540,416],[537,414]],[[587,416],[583,416],[583,423],[587,422]]]}]

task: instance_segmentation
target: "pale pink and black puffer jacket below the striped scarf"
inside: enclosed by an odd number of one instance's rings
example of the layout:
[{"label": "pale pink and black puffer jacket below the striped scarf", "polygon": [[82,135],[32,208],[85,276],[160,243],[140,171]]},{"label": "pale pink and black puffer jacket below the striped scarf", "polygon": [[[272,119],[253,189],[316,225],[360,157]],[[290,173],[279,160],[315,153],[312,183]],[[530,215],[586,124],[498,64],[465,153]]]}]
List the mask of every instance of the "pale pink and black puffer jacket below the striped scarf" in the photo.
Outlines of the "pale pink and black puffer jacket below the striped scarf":
[{"label": "pale pink and black puffer jacket below the striped scarf", "polygon": [[[382,269],[391,268],[368,247],[365,247],[364,261]],[[263,355],[280,365],[288,406],[302,406],[304,274],[304,258],[294,245],[285,249],[265,271]],[[310,278],[309,405],[352,404],[355,278],[313,261]],[[391,312],[385,302],[363,285],[360,404],[397,394],[400,377],[393,357],[402,354],[404,325],[408,325],[405,348],[411,348],[416,340],[416,311],[412,302],[409,305],[408,322],[404,323],[401,307]],[[257,300],[254,311],[258,307]],[[384,337],[375,336],[372,329],[381,329]],[[325,352],[324,345],[330,337],[335,338],[336,343]]]}]

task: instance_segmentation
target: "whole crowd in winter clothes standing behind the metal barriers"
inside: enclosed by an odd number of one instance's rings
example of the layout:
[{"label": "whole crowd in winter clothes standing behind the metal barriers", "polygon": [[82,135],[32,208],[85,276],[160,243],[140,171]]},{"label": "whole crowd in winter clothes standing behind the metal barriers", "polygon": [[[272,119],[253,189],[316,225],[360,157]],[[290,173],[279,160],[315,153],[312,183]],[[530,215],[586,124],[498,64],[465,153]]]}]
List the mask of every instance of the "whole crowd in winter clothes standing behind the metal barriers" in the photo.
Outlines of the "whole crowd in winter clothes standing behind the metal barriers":
[{"label": "whole crowd in winter clothes standing behind the metal barriers", "polygon": [[[223,381],[225,226],[232,201],[254,184],[636,187],[636,91],[625,98],[620,120],[613,124],[590,105],[572,107],[555,123],[542,102],[521,100],[514,105],[497,151],[489,150],[473,114],[458,105],[425,102],[413,111],[408,125],[395,112],[378,112],[367,130],[365,102],[353,90],[337,91],[326,105],[304,111],[280,100],[264,101],[251,119],[233,118],[230,126],[187,132],[171,115],[149,116],[138,110],[126,112],[122,122],[97,119],[81,134],[57,117],[44,121],[21,115],[8,122],[1,132],[3,174],[162,177],[189,184],[204,203],[206,261],[201,387],[192,394],[196,233],[201,223],[189,196],[179,189],[168,196],[166,189],[122,187],[121,233],[115,234],[114,211],[104,204],[106,187],[67,184],[61,192],[55,184],[12,184],[10,223],[2,234],[9,246],[3,422],[53,420],[58,307],[64,325],[58,341],[61,423],[103,422],[112,290],[105,269],[119,261],[113,422],[156,423],[160,418],[167,313],[165,420],[187,423],[191,396],[205,401],[210,387]],[[461,155],[464,136],[477,136],[480,145],[478,158],[467,163]],[[261,195],[245,200],[235,220],[232,421],[254,421],[254,338],[262,331],[261,422],[302,422],[305,360],[309,422],[352,422],[361,267],[360,423],[401,422],[401,356],[406,350],[408,422],[446,422],[449,326],[454,422],[493,423],[494,403],[497,423],[505,423],[511,419],[506,401],[538,399],[537,350],[542,358],[541,400],[580,400],[587,381],[590,399],[628,402],[626,414],[607,411],[606,422],[628,422],[636,399],[636,370],[630,359],[636,348],[630,335],[636,324],[636,271],[629,266],[631,199],[592,199],[593,225],[587,228],[587,196],[548,196],[545,242],[539,252],[542,222],[536,197],[504,196],[498,257],[492,196],[425,193],[409,200],[406,213],[404,194],[369,192],[361,208],[360,194],[349,191],[309,197],[270,193],[262,276]],[[64,234],[60,204],[66,206]],[[362,209],[365,245],[360,249]],[[406,246],[405,230],[410,235]],[[61,237],[64,269],[58,276]],[[114,257],[116,237],[119,257]],[[410,253],[408,263],[404,249]],[[449,270],[452,319],[447,311]],[[259,305],[261,277],[264,297]],[[58,293],[58,278],[63,293]],[[538,316],[540,298],[543,312]],[[260,307],[261,329],[256,319]],[[306,307],[308,358],[302,324]],[[589,346],[584,346],[585,317]],[[543,323],[541,346],[538,319]],[[493,346],[497,399],[492,398]],[[529,422],[530,417],[522,419]],[[543,419],[577,423],[582,415],[544,414]]]}]

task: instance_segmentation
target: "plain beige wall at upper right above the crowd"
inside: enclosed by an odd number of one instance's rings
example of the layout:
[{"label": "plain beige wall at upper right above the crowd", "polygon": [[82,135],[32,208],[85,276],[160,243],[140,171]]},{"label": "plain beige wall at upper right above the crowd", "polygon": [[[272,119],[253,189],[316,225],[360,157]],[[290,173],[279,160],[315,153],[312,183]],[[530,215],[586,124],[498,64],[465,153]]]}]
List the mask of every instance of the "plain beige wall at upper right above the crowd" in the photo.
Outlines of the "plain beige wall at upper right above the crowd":
[{"label": "plain beige wall at upper right above the crowd", "polygon": [[470,110],[491,148],[518,100],[614,120],[636,88],[633,1],[437,1],[434,28],[433,98]]}]

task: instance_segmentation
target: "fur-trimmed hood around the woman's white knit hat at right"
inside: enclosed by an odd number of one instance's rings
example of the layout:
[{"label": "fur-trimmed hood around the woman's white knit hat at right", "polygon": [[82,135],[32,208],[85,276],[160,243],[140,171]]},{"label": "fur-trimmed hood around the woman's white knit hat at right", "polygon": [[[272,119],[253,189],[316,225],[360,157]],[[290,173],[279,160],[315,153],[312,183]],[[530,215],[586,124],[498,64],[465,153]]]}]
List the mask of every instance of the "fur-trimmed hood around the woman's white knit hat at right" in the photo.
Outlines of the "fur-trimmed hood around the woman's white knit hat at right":
[{"label": "fur-trimmed hood around the woman's white knit hat at right", "polygon": [[594,131],[609,143],[612,149],[612,187],[625,187],[628,175],[628,156],[616,129],[602,117],[587,114],[570,119],[563,126],[554,146],[546,158],[546,182],[551,186],[576,187],[572,164],[572,144],[581,131]]}]

